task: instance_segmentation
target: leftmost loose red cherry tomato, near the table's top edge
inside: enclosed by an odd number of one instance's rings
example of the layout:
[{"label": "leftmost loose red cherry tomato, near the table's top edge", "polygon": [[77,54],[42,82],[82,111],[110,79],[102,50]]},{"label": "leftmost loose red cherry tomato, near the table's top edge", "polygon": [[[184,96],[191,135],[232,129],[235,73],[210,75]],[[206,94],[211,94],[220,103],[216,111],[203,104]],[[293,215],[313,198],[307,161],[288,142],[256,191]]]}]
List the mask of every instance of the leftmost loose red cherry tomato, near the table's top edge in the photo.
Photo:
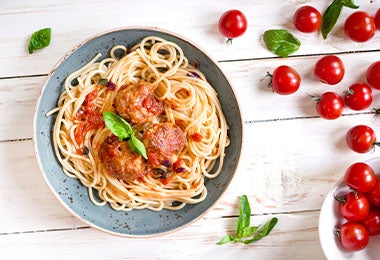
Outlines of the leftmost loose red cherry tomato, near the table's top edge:
[{"label": "leftmost loose red cherry tomato, near the table's top edge", "polygon": [[248,22],[245,15],[239,10],[228,10],[219,19],[219,32],[228,38],[228,43],[233,38],[243,35],[247,30]]}]

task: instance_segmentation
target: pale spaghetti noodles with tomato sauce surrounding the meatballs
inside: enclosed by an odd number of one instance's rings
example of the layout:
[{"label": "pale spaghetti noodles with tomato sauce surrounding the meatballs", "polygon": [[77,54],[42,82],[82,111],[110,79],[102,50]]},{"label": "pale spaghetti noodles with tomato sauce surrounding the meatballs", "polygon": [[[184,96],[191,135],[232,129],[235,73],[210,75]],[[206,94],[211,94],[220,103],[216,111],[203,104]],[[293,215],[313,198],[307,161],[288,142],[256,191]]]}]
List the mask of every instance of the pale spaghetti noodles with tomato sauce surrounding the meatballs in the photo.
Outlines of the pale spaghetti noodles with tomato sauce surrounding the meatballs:
[{"label": "pale spaghetti noodles with tomato sauce surrounding the meatballs", "polygon": [[[66,78],[58,107],[50,112],[57,113],[53,141],[64,173],[88,188],[94,204],[109,203],[115,210],[178,210],[203,201],[207,196],[205,178],[221,172],[229,144],[217,93],[204,74],[189,64],[177,44],[158,37],[146,37],[132,48],[114,46],[109,58],[100,56]],[[101,80],[107,84],[100,84]],[[99,149],[111,131],[101,122],[89,127],[78,116],[90,97],[99,113],[115,111],[114,101],[122,87],[141,81],[149,82],[155,98],[164,104],[164,112],[154,121],[179,125],[186,136],[178,155],[183,171],[167,181],[152,174],[128,181],[108,174]],[[144,127],[132,124],[137,138],[142,138]]]}]

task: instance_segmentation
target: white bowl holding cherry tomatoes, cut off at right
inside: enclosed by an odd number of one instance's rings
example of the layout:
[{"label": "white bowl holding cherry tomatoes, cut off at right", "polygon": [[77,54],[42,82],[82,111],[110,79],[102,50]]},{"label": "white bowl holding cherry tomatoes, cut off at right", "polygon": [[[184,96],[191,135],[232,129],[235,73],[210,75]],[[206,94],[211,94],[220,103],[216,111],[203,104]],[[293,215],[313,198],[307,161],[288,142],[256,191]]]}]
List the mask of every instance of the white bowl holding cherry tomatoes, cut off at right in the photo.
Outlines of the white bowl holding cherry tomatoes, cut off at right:
[{"label": "white bowl holding cherry tomatoes, cut off at right", "polygon": [[[377,175],[380,175],[380,157],[365,161],[370,165]],[[349,165],[347,165],[347,168]],[[344,176],[344,173],[342,174]],[[348,187],[343,182],[343,177],[337,183],[336,188],[331,190],[323,202],[322,209],[319,216],[319,240],[323,252],[327,259],[380,259],[380,235],[370,236],[369,244],[366,248],[356,252],[349,252],[344,250],[338,238],[334,234],[334,229],[346,222],[340,215],[338,209],[338,202],[335,200],[334,195],[344,194],[349,191]]]}]

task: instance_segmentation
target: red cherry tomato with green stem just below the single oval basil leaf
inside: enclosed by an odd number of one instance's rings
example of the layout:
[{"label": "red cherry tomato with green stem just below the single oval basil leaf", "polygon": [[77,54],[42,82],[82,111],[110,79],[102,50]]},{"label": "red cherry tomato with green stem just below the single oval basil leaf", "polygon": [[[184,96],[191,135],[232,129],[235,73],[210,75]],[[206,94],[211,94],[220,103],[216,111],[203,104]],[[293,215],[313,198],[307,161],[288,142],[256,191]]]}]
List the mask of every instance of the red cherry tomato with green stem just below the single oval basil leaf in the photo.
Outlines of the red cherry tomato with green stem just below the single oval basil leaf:
[{"label": "red cherry tomato with green stem just below the single oval basil leaf", "polygon": [[301,84],[301,77],[292,67],[282,65],[273,71],[270,86],[280,95],[289,95],[296,92]]}]

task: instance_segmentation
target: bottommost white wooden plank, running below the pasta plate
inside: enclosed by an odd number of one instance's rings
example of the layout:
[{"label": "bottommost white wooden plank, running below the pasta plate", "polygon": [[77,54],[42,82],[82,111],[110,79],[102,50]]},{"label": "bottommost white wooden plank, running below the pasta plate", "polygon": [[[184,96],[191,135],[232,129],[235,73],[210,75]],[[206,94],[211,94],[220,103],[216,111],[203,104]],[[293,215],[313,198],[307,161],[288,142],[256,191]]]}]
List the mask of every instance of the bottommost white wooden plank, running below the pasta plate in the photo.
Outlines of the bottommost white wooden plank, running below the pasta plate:
[{"label": "bottommost white wooden plank, running below the pasta plate", "polygon": [[[254,216],[251,225],[259,225],[270,217]],[[0,245],[7,249],[10,259],[76,259],[84,254],[92,259],[323,258],[317,232],[318,212],[276,217],[279,222],[269,237],[251,245],[216,245],[224,235],[234,234],[236,218],[201,219],[174,233],[143,239],[121,238],[82,228],[3,235]]]}]

